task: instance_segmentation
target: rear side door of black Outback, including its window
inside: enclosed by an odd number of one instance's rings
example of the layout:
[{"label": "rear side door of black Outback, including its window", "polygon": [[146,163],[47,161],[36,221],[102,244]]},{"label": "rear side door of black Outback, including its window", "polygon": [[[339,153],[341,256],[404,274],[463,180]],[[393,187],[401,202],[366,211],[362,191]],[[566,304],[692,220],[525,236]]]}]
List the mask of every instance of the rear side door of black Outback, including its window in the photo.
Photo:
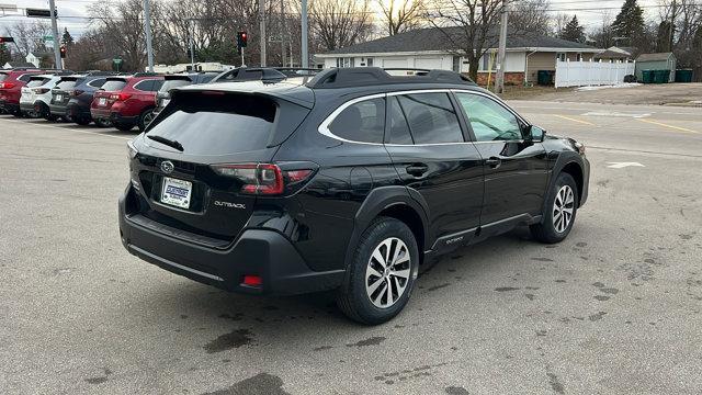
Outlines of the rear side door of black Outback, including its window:
[{"label": "rear side door of black Outback, including its window", "polygon": [[450,92],[389,93],[387,103],[385,147],[400,182],[428,206],[434,248],[469,241],[479,226],[483,163]]}]

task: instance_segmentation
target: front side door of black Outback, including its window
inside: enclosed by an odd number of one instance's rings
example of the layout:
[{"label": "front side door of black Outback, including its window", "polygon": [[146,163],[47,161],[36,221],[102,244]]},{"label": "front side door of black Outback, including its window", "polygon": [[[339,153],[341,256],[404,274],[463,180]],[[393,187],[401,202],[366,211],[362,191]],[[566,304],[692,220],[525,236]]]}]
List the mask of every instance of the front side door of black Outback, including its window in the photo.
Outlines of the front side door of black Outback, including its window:
[{"label": "front side door of black Outback, including its window", "polygon": [[483,227],[511,227],[541,214],[547,158],[539,142],[524,138],[526,123],[505,104],[480,92],[456,91],[456,101],[484,159]]}]

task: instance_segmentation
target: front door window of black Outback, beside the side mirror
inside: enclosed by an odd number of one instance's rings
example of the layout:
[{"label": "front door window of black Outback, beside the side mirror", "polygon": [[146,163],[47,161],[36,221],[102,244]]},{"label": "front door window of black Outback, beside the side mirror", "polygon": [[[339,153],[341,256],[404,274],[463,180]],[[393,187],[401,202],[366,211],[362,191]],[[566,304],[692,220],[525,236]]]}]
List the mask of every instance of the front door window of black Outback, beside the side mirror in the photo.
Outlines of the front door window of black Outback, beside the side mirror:
[{"label": "front door window of black Outback, beside the side mirror", "polygon": [[472,93],[456,93],[478,142],[522,139],[517,116],[495,100]]}]

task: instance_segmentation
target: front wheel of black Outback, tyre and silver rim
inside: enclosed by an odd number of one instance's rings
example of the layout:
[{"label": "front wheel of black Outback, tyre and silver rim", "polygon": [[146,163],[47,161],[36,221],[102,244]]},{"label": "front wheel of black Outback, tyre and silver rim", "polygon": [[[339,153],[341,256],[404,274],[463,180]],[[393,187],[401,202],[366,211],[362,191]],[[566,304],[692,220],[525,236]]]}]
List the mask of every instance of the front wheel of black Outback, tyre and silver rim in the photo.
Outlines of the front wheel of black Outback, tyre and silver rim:
[{"label": "front wheel of black Outback, tyre and silver rim", "polygon": [[548,192],[542,222],[530,226],[532,236],[541,242],[563,241],[575,223],[578,211],[578,187],[568,173],[561,173]]}]

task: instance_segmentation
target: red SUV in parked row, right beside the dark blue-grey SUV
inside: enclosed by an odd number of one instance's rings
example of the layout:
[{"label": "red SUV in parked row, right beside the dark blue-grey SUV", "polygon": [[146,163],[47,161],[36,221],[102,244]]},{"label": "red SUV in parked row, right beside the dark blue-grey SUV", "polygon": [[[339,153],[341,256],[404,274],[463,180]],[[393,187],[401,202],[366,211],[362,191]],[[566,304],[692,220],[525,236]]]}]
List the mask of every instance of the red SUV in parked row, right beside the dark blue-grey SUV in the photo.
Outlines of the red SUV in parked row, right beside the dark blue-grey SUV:
[{"label": "red SUV in parked row, right beside the dark blue-grey SUV", "polygon": [[95,92],[90,104],[93,120],[110,121],[120,131],[138,126],[144,131],[154,119],[156,92],[163,83],[163,76],[136,74],[107,77]]}]

